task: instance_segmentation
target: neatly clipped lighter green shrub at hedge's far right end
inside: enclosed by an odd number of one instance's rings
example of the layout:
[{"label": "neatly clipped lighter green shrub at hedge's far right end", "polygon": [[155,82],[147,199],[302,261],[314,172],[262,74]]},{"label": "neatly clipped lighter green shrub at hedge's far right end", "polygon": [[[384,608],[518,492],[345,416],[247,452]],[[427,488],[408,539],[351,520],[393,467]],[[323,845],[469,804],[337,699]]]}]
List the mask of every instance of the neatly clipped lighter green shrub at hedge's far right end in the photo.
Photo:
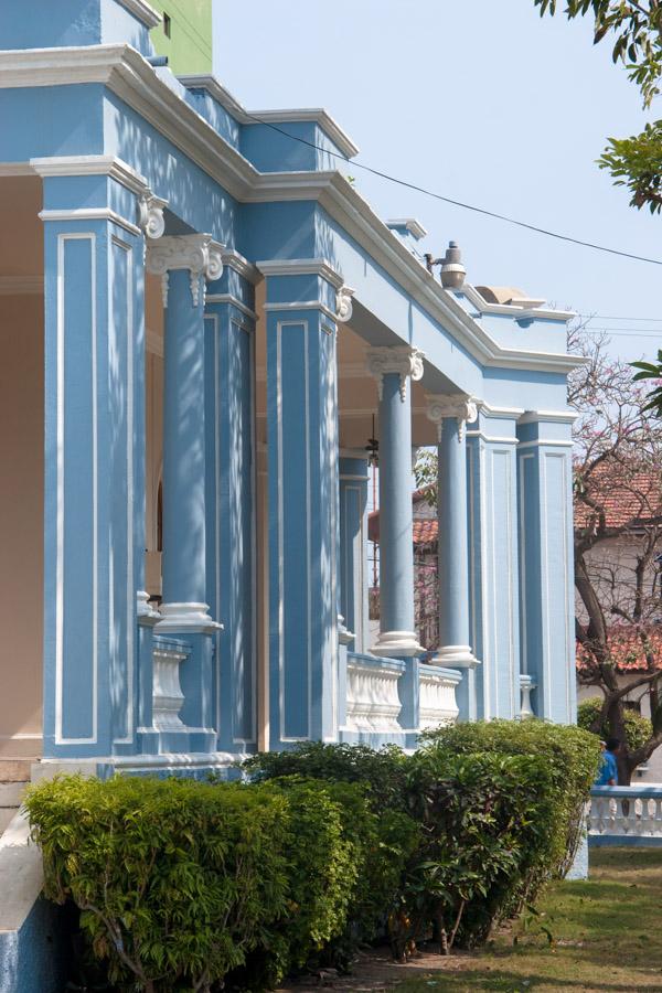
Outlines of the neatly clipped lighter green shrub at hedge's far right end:
[{"label": "neatly clipped lighter green shrub at hedge's far right end", "polygon": [[[584,831],[584,807],[600,761],[594,735],[581,728],[545,720],[480,720],[441,727],[423,736],[449,756],[474,752],[530,755],[546,758],[554,794],[554,824],[542,878],[564,876],[575,859]],[[540,880],[532,877],[535,889]],[[528,897],[525,897],[528,898]]]}]

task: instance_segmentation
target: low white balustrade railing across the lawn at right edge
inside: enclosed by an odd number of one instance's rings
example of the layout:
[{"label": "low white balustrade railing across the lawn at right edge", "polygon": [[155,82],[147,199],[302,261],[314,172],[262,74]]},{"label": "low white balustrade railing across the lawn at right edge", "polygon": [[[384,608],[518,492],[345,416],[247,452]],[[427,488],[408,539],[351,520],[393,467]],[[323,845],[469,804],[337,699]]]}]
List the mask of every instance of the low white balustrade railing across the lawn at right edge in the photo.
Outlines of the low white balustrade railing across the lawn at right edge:
[{"label": "low white balustrade railing across the lawn at right edge", "polygon": [[662,787],[594,787],[591,845],[662,845]]}]

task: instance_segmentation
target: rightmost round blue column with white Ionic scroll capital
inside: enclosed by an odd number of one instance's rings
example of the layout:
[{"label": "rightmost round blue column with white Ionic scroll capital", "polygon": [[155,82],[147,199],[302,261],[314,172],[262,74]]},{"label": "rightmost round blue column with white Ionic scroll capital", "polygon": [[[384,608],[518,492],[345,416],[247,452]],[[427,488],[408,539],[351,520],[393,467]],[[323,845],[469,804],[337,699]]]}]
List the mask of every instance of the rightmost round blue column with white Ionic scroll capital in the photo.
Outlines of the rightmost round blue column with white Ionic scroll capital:
[{"label": "rightmost round blue column with white Ionic scroll capital", "polygon": [[463,395],[428,396],[428,417],[437,425],[437,520],[439,555],[439,649],[436,665],[463,673],[457,690],[460,719],[477,717],[474,670],[469,633],[469,536],[467,506],[468,420],[476,404]]}]

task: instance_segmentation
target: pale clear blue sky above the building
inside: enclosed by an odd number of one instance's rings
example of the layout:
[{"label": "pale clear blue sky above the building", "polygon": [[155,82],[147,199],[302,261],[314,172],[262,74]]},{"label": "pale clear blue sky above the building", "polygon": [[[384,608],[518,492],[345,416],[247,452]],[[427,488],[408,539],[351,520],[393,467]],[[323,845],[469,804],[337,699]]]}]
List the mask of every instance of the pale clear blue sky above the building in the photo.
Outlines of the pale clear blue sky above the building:
[{"label": "pale clear blue sky above the building", "polygon": [[[214,72],[248,110],[325,107],[359,145],[357,162],[662,259],[662,216],[629,207],[627,192],[595,164],[607,137],[641,130],[645,116],[609,42],[592,46],[589,19],[541,19],[533,0],[213,2]],[[662,346],[662,266],[344,171],[381,216],[421,222],[421,250],[440,255],[457,241],[471,282],[618,318],[590,327],[622,332],[612,352],[623,359]]]}]

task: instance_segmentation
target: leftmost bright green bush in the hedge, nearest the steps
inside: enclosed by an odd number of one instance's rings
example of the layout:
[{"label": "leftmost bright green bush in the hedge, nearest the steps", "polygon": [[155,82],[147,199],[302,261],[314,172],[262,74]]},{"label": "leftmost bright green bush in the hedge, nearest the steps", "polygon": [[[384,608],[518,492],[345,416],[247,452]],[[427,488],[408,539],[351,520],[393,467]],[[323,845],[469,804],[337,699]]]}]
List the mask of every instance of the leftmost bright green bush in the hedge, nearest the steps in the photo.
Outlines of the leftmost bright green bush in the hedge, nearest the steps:
[{"label": "leftmost bright green bush in the hedge, nearest the steps", "polygon": [[78,906],[113,981],[210,990],[288,909],[278,791],[67,777],[32,789],[25,805],[45,894]]}]

